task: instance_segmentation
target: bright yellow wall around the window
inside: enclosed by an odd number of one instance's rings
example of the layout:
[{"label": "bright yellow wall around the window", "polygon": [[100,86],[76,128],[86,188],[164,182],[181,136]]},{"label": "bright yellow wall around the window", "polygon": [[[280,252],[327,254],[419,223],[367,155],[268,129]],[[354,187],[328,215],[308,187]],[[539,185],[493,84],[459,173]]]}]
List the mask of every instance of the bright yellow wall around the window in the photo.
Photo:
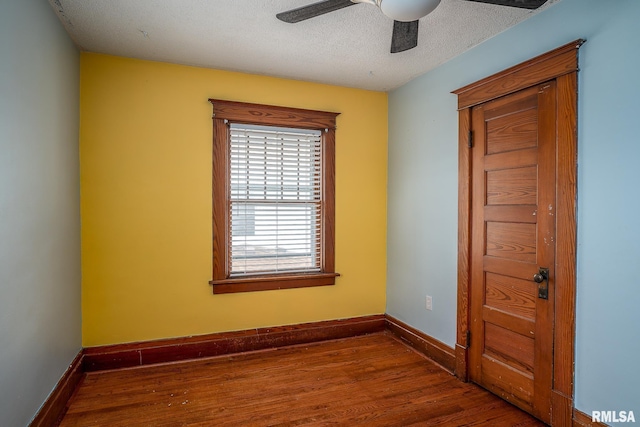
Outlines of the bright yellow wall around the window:
[{"label": "bright yellow wall around the window", "polygon": [[[340,112],[336,286],[212,295],[208,98]],[[83,53],[83,345],[384,313],[387,95]]]}]

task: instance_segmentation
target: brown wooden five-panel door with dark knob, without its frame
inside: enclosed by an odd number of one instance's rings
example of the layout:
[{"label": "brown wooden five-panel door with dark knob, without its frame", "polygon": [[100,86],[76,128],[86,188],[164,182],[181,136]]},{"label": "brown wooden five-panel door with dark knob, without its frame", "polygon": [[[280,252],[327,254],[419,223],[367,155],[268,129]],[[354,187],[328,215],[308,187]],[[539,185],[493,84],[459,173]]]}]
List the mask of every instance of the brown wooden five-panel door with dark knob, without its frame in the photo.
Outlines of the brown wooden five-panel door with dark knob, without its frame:
[{"label": "brown wooden five-panel door with dark knob, without its frame", "polygon": [[473,107],[471,130],[469,378],[549,423],[556,82]]}]

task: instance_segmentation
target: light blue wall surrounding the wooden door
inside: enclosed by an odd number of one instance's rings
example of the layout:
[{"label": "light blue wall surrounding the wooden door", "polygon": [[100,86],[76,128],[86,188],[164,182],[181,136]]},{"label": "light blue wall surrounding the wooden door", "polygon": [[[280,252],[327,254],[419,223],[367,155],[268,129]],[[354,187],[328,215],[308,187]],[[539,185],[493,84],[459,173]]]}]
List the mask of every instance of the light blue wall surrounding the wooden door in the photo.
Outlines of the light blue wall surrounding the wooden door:
[{"label": "light blue wall surrounding the wooden door", "polygon": [[[389,95],[387,312],[453,346],[457,113],[450,92],[578,38],[575,405],[640,418],[638,0],[562,0]],[[424,308],[433,296],[433,311]],[[640,419],[639,419],[640,421]]]}]

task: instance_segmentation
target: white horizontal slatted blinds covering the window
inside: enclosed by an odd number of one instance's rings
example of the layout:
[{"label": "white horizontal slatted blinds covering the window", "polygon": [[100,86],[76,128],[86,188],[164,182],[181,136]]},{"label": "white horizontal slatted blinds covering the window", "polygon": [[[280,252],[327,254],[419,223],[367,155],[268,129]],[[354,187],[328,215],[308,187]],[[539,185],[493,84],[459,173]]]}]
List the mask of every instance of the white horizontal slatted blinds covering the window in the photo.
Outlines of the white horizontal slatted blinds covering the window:
[{"label": "white horizontal slatted blinds covering the window", "polygon": [[320,131],[230,128],[231,275],[319,271]]}]

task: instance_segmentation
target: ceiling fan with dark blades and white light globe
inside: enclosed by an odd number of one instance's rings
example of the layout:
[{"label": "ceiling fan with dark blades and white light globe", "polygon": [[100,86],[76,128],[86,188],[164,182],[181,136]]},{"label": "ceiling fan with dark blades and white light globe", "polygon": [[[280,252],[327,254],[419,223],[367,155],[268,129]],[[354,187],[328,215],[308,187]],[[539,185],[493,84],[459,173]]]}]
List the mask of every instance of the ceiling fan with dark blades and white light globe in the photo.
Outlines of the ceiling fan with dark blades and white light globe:
[{"label": "ceiling fan with dark blades and white light globe", "polygon": [[[547,0],[467,0],[500,6],[537,9]],[[403,52],[418,45],[418,20],[438,7],[440,0],[323,0],[278,13],[276,17],[295,24],[305,19],[315,18],[358,3],[374,4],[389,18],[393,19],[391,53]]]}]

